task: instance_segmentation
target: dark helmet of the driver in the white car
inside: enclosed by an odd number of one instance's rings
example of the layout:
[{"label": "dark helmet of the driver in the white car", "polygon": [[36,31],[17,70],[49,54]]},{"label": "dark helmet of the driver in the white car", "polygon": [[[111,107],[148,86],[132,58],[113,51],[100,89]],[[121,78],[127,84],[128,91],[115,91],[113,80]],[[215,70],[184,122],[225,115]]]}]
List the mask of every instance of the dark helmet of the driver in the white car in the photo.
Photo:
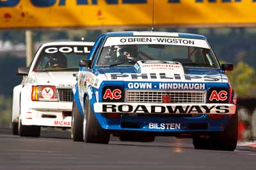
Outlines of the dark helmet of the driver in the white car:
[{"label": "dark helmet of the driver in the white car", "polygon": [[47,63],[47,67],[60,67],[66,68],[67,67],[67,58],[63,53],[54,53],[50,56],[50,59]]}]

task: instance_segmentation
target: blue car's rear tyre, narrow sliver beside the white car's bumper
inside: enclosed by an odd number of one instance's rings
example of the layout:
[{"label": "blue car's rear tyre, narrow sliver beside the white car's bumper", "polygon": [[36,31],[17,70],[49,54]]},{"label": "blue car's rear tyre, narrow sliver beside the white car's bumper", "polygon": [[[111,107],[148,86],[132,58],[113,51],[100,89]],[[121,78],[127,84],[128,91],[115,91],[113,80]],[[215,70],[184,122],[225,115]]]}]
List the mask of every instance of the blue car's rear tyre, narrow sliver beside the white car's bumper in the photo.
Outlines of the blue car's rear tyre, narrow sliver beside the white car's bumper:
[{"label": "blue car's rear tyre, narrow sliver beside the white car's bumper", "polygon": [[83,141],[83,117],[79,113],[75,99],[72,104],[71,138],[74,141]]}]

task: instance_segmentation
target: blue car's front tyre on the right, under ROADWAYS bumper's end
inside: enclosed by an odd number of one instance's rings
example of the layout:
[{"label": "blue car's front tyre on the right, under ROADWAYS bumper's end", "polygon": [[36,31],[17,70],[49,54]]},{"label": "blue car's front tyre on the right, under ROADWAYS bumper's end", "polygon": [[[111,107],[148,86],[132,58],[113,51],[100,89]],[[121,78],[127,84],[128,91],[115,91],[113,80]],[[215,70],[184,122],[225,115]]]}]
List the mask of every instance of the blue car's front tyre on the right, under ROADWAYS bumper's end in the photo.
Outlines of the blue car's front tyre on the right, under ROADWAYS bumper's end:
[{"label": "blue car's front tyre on the right, under ROADWAYS bumper's end", "polygon": [[237,145],[237,111],[230,118],[223,132],[215,132],[212,136],[212,149],[234,151]]}]

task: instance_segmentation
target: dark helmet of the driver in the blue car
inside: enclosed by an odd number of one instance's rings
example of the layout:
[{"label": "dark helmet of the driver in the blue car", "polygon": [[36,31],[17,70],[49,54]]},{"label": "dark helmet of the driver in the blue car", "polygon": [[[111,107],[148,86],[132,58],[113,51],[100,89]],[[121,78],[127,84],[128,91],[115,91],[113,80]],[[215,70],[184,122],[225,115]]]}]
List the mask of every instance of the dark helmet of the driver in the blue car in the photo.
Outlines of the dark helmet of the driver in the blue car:
[{"label": "dark helmet of the driver in the blue car", "polygon": [[125,55],[128,60],[137,60],[139,50],[137,45],[124,45],[120,46],[120,55]]}]

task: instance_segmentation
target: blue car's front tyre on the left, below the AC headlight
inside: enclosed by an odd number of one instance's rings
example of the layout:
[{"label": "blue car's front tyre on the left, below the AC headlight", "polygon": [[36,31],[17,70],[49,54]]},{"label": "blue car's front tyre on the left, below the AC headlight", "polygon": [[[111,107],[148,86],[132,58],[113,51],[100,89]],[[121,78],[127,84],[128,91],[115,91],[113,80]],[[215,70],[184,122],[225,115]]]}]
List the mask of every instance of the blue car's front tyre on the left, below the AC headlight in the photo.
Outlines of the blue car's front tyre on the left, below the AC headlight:
[{"label": "blue car's front tyre on the left, below the AC headlight", "polygon": [[83,139],[86,143],[102,143],[108,144],[110,133],[100,127],[97,118],[92,112],[89,99],[86,97],[83,121]]}]

